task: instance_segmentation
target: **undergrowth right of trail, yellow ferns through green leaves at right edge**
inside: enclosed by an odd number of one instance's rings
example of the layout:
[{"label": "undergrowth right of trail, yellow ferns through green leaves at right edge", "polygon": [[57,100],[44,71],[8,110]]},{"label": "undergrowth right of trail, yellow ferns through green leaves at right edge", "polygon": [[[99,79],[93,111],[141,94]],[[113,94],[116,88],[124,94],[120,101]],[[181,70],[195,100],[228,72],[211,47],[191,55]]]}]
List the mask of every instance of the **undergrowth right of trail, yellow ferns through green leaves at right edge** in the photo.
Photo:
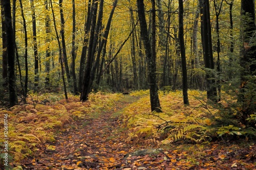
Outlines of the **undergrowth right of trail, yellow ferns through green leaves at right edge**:
[{"label": "undergrowth right of trail, yellow ferns through green leaves at right edge", "polygon": [[[143,96],[137,102],[126,107],[123,112],[124,126],[129,128],[127,142],[144,142],[146,144],[169,144],[178,140],[201,143],[214,139],[224,139],[228,135],[249,136],[254,134],[253,128],[242,128],[232,124],[234,120],[225,118],[222,108],[235,102],[228,94],[219,104],[209,104],[206,92],[188,91],[190,106],[183,105],[182,91],[159,92],[163,113],[151,112],[150,96],[147,91],[138,91]],[[222,107],[220,107],[222,106]],[[229,111],[233,114],[231,107]],[[225,110],[225,109],[224,109]],[[219,124],[220,117],[226,124]]]}]

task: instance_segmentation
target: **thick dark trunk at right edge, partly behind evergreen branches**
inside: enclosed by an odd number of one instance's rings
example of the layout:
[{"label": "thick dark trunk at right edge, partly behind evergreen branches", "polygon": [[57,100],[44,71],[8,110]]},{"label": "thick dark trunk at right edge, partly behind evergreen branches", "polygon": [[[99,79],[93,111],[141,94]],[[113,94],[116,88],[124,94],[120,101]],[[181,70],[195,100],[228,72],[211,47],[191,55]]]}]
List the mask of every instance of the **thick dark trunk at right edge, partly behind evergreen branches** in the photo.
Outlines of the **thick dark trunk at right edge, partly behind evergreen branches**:
[{"label": "thick dark trunk at right edge, partly behind evergreen branches", "polygon": [[[255,113],[255,75],[256,75],[256,41],[255,41],[255,1],[241,1],[241,85],[238,102],[242,104],[241,123],[248,125],[247,118]],[[243,45],[243,46],[242,46]],[[250,126],[255,128],[254,123]]]}]

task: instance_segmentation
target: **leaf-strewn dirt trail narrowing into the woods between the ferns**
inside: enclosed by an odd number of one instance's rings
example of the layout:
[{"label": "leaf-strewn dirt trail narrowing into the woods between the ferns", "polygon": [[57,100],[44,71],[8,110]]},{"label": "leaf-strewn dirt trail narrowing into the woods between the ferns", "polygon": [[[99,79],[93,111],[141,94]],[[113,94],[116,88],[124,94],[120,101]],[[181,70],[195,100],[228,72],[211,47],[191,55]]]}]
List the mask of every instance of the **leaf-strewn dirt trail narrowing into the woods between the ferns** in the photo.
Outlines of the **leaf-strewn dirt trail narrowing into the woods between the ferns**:
[{"label": "leaf-strewn dirt trail narrowing into the woods between the ferns", "polygon": [[137,147],[126,144],[119,137],[121,122],[115,115],[136,100],[125,95],[117,102],[116,111],[72,122],[65,132],[55,136],[55,142],[43,144],[34,157],[23,160],[24,169],[125,168],[122,158]]}]

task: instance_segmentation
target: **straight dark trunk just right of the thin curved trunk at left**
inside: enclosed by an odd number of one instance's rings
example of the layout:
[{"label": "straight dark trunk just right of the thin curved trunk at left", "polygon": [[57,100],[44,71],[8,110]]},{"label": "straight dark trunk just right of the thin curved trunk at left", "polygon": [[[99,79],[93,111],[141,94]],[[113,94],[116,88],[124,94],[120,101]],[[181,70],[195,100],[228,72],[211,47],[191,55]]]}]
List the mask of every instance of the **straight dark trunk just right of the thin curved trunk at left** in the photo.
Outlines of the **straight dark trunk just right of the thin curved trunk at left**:
[{"label": "straight dark trunk just right of the thin curved trunk at left", "polygon": [[34,86],[35,91],[38,89],[38,81],[39,81],[39,60],[38,60],[38,49],[37,49],[37,39],[36,39],[36,20],[35,20],[35,7],[34,7],[34,0],[30,0],[31,3],[31,11],[32,11],[32,34],[33,34],[33,51],[34,51],[34,72],[35,72],[35,79],[34,79]]}]

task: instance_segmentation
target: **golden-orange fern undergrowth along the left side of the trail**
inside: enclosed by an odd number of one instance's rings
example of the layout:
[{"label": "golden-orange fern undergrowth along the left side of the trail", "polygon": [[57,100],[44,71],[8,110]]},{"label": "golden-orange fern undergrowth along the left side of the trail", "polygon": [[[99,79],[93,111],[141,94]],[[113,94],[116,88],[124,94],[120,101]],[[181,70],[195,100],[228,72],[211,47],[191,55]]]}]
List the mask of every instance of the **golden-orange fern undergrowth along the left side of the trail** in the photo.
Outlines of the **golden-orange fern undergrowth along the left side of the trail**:
[{"label": "golden-orange fern undergrowth along the left side of the trail", "polygon": [[[65,125],[73,120],[112,109],[115,101],[122,98],[122,94],[91,93],[89,100],[83,103],[79,101],[79,96],[72,94],[68,100],[63,98],[64,96],[53,93],[31,94],[26,105],[1,109],[0,127],[4,127],[4,115],[8,115],[9,155],[13,163],[32,155],[42,143],[54,141],[55,132],[65,130]],[[3,128],[0,129],[0,134],[4,134]],[[0,138],[0,143],[4,141],[4,138]],[[1,157],[0,162],[2,161]]]}]

